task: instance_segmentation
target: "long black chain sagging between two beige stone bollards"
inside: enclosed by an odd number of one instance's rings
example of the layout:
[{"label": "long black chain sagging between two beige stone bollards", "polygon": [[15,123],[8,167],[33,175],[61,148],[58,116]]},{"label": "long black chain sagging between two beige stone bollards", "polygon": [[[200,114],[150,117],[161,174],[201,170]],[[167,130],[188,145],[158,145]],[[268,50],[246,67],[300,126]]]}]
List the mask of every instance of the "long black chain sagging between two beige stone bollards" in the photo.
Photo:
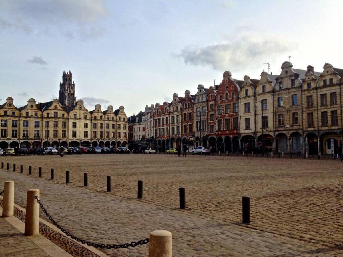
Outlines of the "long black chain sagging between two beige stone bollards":
[{"label": "long black chain sagging between two beige stone bollards", "polygon": [[67,230],[63,229],[59,224],[57,224],[57,222],[46,211],[46,209],[44,208],[43,204],[38,199],[38,196],[35,196],[34,198],[37,200],[37,203],[39,204],[40,208],[42,208],[42,210],[45,213],[45,215],[51,220],[52,223],[54,223],[54,225],[58,229],[60,229],[67,236],[70,236],[70,238],[75,239],[76,241],[81,242],[82,244],[86,244],[88,246],[94,246],[94,247],[97,247],[97,248],[107,248],[107,249],[114,248],[114,249],[118,249],[118,248],[128,248],[129,246],[135,247],[137,245],[144,245],[144,244],[149,243],[149,241],[150,241],[149,238],[145,238],[145,239],[139,240],[137,242],[133,241],[130,244],[129,243],[125,243],[125,244],[118,244],[118,245],[116,245],[116,244],[110,245],[110,244],[97,244],[97,243],[92,243],[92,242],[89,242],[89,241],[86,241],[86,240],[82,240],[79,237],[70,234]]}]

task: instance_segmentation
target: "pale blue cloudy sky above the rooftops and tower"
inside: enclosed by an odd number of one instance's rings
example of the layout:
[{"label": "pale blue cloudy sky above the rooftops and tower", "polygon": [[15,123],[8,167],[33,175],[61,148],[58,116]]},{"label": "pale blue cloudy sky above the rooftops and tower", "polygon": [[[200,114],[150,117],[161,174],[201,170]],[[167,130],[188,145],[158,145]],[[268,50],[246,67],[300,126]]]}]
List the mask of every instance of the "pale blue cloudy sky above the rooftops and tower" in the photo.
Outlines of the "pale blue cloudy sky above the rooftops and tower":
[{"label": "pale blue cloudy sky above the rooftops and tower", "polygon": [[0,99],[58,98],[63,70],[93,110],[126,114],[232,77],[343,68],[339,1],[0,0]]}]

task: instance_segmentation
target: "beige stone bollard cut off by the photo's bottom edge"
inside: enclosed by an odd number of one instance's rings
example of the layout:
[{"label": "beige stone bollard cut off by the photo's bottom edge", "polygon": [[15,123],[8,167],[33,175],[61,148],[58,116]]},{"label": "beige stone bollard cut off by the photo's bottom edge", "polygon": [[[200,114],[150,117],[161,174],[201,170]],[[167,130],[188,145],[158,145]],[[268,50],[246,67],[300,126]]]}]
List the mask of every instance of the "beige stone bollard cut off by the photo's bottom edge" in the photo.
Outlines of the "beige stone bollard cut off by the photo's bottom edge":
[{"label": "beige stone bollard cut off by the photo's bottom edge", "polygon": [[172,238],[167,230],[155,230],[150,233],[148,257],[172,257]]}]

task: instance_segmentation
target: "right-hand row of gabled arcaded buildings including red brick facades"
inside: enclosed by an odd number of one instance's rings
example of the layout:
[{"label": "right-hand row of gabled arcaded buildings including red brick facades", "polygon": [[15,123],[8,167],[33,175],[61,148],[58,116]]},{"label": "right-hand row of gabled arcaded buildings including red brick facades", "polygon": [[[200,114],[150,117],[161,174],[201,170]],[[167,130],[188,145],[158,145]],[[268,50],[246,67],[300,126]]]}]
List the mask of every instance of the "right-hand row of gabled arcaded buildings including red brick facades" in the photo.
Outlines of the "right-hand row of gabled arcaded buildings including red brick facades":
[{"label": "right-hand row of gabled arcaded buildings including red brick facades", "polygon": [[146,106],[130,124],[143,127],[145,136],[134,130],[133,142],[162,151],[187,144],[221,152],[332,154],[342,151],[342,84],[343,69],[330,63],[316,72],[286,61],[280,74],[263,71],[259,79],[234,79],[225,71],[219,85],[198,85],[195,95],[186,90]]}]

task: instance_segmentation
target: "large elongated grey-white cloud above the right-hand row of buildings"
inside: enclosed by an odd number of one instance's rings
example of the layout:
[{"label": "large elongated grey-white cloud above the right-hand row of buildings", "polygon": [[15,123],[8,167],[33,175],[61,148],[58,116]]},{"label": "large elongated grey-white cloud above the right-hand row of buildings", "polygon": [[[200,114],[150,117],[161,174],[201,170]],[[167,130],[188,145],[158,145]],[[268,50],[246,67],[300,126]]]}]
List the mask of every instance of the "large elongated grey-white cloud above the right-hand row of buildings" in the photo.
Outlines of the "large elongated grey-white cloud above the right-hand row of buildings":
[{"label": "large elongated grey-white cloud above the right-hand row of buildings", "polygon": [[186,46],[180,53],[172,53],[186,64],[210,66],[214,70],[237,71],[261,63],[282,53],[289,53],[296,44],[287,42],[277,36],[241,36],[230,42],[220,42],[209,46]]}]

